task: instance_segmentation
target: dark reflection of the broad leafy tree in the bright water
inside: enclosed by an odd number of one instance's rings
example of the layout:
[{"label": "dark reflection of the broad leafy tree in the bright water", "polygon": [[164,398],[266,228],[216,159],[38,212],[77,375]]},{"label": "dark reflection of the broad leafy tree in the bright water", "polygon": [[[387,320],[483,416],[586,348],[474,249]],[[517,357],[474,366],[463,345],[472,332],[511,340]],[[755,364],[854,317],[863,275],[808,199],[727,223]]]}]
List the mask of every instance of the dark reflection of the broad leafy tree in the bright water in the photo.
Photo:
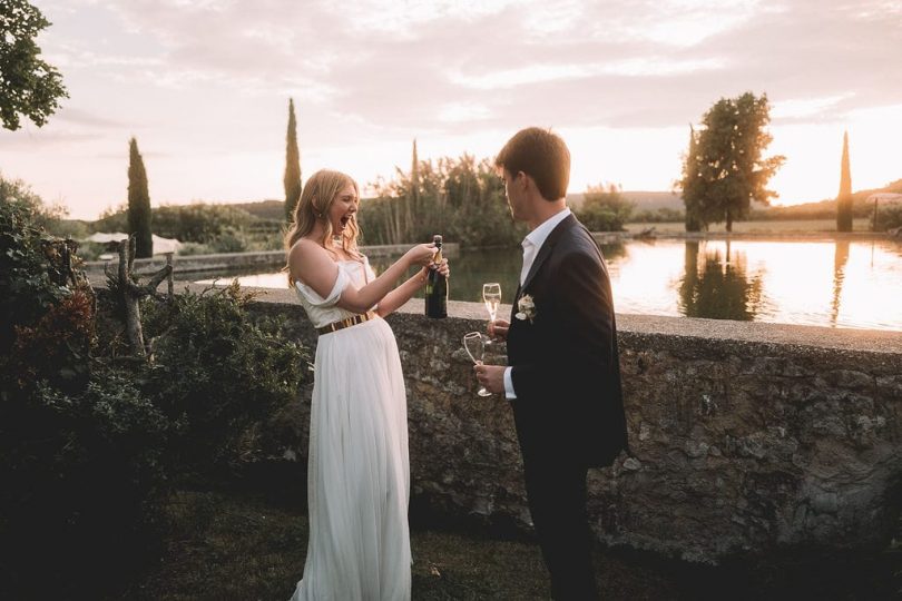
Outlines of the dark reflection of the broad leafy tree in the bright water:
[{"label": "dark reflection of the broad leafy tree in the bright water", "polygon": [[762,299],[762,276],[748,276],[744,253],[708,250],[699,266],[698,242],[686,243],[685,275],[679,285],[679,312],[687,317],[751,322]]}]

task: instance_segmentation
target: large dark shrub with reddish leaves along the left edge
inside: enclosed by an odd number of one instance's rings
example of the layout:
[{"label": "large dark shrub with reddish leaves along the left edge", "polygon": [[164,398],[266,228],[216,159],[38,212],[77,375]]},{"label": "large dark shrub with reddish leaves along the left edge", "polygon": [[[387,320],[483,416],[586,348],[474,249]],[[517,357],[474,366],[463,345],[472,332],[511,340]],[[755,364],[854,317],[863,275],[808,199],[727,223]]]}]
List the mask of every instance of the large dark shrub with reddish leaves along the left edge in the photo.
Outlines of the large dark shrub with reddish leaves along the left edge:
[{"label": "large dark shrub with reddish leaves along the left edge", "polygon": [[91,359],[92,290],[38,214],[0,203],[0,597],[96,597],[153,549],[167,425]]}]

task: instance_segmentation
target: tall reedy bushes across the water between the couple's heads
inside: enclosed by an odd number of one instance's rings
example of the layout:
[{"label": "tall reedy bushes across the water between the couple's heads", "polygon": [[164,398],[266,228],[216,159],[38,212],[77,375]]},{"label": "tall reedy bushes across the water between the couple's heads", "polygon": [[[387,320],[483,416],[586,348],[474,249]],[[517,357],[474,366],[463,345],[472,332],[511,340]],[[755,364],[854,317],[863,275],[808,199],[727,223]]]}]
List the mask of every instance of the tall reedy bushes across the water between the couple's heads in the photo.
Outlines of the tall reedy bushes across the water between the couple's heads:
[{"label": "tall reedy bushes across the water between the couple's heads", "polygon": [[511,246],[526,235],[522,224],[511,224],[504,187],[489,159],[477,162],[464,154],[418,161],[411,174],[399,169],[395,179],[373,187],[376,197],[361,203],[364,244],[427,242],[442,234],[467,247]]}]

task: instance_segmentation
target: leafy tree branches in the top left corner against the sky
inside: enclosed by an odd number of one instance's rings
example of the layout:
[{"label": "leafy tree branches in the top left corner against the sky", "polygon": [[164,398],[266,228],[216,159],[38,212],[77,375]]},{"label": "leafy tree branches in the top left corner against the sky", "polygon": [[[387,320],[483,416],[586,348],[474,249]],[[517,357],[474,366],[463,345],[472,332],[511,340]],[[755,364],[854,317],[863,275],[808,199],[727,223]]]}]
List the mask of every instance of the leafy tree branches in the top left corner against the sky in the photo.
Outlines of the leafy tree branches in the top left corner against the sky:
[{"label": "leafy tree branches in the top left corner against the sky", "polygon": [[26,0],[0,1],[0,120],[19,129],[26,117],[41,127],[69,95],[62,76],[40,58],[35,38],[50,22]]}]

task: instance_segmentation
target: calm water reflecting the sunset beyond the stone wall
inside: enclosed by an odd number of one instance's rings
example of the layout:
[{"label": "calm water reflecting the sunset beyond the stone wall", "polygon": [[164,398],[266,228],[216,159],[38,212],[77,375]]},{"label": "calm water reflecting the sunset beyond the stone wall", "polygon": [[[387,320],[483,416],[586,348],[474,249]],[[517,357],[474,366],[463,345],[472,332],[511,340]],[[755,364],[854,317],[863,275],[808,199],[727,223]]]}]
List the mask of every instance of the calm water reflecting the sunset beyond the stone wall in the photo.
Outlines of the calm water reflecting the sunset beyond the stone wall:
[{"label": "calm water reflecting the sunset beyond the stone wall", "polygon": [[[902,331],[902,243],[656,239],[601,250],[617,313]],[[510,304],[521,260],[519,247],[461,252],[451,298],[481,303],[482,283],[499,282]],[[281,273],[238,282],[287,287]]]}]

